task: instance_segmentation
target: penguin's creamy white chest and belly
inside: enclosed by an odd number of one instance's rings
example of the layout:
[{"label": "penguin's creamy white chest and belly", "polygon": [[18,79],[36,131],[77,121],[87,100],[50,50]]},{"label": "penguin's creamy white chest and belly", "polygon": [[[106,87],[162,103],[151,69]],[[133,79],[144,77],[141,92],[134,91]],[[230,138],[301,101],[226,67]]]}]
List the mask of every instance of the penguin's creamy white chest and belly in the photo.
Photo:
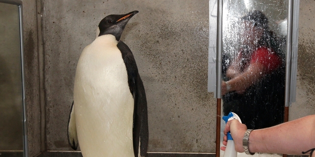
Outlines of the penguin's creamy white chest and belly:
[{"label": "penguin's creamy white chest and belly", "polygon": [[134,99],[113,35],[102,35],[79,59],[74,109],[80,149],[88,156],[134,156]]}]

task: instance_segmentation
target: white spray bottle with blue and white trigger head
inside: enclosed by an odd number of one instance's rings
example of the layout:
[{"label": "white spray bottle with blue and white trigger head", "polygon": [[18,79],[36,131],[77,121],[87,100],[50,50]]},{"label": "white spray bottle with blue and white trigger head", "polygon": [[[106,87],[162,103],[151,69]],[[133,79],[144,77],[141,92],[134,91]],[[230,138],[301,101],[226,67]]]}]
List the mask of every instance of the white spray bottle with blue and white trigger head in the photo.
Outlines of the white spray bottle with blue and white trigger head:
[{"label": "white spray bottle with blue and white trigger head", "polygon": [[[238,120],[240,123],[242,123],[239,116],[234,112],[230,112],[228,115],[223,116],[223,120],[225,121],[225,123],[228,123],[228,121],[231,121],[231,120]],[[225,149],[223,157],[236,157],[237,152],[235,150],[235,144],[231,136],[231,133],[228,132],[227,136],[228,136],[228,143],[227,143],[227,147]]]}]

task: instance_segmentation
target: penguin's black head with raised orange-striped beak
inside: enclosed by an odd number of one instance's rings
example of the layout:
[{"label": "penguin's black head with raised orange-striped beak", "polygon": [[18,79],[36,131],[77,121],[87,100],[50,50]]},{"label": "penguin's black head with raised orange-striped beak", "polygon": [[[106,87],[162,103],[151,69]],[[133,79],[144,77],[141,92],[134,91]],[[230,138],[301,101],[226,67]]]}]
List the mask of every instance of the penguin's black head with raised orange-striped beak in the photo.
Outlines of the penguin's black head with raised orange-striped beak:
[{"label": "penguin's black head with raised orange-striped beak", "polygon": [[137,14],[138,11],[133,11],[123,15],[108,15],[101,20],[99,24],[100,34],[112,34],[116,37],[116,40],[120,40],[120,36],[124,27],[127,25],[128,21]]}]

